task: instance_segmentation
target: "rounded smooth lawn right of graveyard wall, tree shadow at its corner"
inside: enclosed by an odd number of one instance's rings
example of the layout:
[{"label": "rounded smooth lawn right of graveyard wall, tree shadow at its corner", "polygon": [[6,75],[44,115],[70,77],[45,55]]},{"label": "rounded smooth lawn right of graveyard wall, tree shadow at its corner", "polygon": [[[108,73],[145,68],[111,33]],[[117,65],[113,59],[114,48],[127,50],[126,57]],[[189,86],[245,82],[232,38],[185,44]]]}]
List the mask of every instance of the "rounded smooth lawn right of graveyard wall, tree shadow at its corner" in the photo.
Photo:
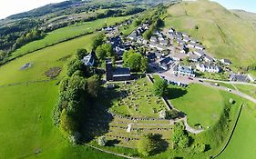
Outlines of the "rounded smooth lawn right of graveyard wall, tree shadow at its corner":
[{"label": "rounded smooth lawn right of graveyard wall, tree shadow at its corner", "polygon": [[219,90],[202,84],[190,84],[186,89],[170,85],[170,102],[188,115],[191,126],[204,128],[215,124],[224,106]]}]

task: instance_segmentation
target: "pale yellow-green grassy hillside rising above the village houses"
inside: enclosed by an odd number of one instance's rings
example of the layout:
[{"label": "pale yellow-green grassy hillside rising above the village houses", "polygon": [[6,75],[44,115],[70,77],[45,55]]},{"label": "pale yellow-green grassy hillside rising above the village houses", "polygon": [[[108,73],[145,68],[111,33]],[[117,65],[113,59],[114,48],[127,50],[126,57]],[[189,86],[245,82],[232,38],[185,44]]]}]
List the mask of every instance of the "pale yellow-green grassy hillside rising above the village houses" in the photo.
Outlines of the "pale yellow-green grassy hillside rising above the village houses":
[{"label": "pale yellow-green grassy hillside rising above the village houses", "polygon": [[199,0],[171,5],[165,22],[166,29],[174,26],[199,39],[210,55],[229,58],[240,66],[256,62],[255,30],[217,3]]}]

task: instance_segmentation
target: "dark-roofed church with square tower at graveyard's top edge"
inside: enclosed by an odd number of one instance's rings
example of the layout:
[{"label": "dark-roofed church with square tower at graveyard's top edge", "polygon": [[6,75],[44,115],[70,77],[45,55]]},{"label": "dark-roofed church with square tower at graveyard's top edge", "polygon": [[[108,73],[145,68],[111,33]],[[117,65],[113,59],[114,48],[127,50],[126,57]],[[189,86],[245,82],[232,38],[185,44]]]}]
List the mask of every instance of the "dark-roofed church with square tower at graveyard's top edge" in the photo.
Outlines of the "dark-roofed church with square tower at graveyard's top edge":
[{"label": "dark-roofed church with square tower at graveyard's top edge", "polygon": [[111,60],[106,61],[106,80],[107,81],[126,81],[130,80],[130,69],[127,67],[113,68]]}]

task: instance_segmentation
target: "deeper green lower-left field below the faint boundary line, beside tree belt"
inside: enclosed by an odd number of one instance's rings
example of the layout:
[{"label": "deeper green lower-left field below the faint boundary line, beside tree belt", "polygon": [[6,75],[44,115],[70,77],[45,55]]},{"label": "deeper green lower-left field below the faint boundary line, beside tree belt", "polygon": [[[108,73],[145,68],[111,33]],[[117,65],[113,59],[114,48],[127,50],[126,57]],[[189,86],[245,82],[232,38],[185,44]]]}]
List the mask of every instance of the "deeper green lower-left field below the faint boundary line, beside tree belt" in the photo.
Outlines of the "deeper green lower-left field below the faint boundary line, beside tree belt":
[{"label": "deeper green lower-left field below the faint boundary line, beside tree belt", "polygon": [[56,81],[9,86],[0,92],[0,158],[119,158],[70,145],[62,137],[51,119]]}]

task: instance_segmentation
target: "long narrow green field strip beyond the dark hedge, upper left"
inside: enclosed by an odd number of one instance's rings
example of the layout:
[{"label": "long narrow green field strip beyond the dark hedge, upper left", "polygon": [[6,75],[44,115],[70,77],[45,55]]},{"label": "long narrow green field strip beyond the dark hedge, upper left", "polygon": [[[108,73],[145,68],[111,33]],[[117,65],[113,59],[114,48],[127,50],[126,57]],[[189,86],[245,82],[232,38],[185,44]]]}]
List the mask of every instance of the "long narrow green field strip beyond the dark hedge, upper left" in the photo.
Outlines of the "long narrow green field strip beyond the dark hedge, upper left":
[{"label": "long narrow green field strip beyond the dark hedge, upper left", "polygon": [[53,32],[48,33],[44,39],[31,42],[17,49],[9,57],[9,59],[12,59],[17,55],[25,55],[27,52],[31,52],[38,48],[45,47],[46,45],[56,44],[57,42],[72,38],[77,35],[84,35],[86,33],[94,32],[97,29],[102,28],[104,25],[115,25],[116,23],[123,22],[125,19],[128,19],[130,17],[131,16],[129,15],[109,17],[57,29]]}]

